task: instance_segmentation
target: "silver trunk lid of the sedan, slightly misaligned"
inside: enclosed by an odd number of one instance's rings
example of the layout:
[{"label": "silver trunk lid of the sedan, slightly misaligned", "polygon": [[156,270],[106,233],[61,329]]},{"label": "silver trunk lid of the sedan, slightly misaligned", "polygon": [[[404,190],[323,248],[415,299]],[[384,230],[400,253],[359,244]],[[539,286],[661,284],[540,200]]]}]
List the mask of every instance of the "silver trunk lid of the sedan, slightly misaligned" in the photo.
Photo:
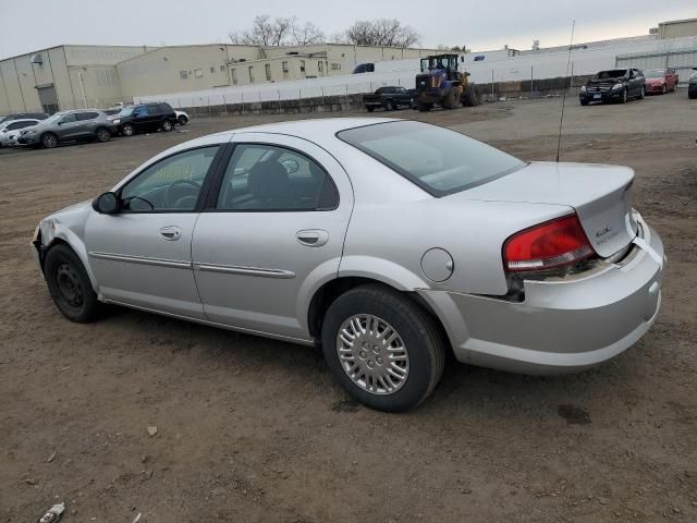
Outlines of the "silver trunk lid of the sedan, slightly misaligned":
[{"label": "silver trunk lid of the sedan, slightly misaligned", "polygon": [[447,197],[571,207],[594,250],[604,258],[626,247],[636,236],[628,191],[633,180],[634,171],[628,167],[531,162],[498,180]]}]

